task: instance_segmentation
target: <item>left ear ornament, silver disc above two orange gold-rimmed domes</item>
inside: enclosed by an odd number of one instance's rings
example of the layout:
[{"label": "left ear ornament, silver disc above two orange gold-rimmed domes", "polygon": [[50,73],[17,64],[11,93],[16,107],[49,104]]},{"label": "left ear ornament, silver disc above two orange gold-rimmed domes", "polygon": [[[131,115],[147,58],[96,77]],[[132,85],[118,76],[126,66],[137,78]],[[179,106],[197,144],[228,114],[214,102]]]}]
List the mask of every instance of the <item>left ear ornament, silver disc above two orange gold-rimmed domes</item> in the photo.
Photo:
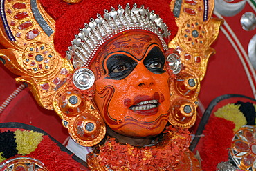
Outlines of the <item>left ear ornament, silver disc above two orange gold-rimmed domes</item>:
[{"label": "left ear ornament, silver disc above two orange gold-rimmed domes", "polygon": [[83,146],[98,144],[106,134],[104,121],[91,99],[95,77],[89,68],[78,68],[54,96],[54,110],[71,138]]}]

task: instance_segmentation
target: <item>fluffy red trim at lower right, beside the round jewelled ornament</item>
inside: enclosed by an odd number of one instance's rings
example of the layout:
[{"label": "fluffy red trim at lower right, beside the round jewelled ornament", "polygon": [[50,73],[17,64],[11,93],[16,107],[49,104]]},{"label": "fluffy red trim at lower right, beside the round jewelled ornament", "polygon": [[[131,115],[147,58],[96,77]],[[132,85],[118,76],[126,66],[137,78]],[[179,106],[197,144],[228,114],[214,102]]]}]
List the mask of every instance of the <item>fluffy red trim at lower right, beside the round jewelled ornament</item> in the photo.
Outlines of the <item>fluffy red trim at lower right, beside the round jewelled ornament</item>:
[{"label": "fluffy red trim at lower right, beside the round jewelled ornament", "polygon": [[215,171],[218,163],[228,161],[228,150],[234,137],[235,124],[223,118],[212,116],[205,126],[203,149],[203,170]]}]

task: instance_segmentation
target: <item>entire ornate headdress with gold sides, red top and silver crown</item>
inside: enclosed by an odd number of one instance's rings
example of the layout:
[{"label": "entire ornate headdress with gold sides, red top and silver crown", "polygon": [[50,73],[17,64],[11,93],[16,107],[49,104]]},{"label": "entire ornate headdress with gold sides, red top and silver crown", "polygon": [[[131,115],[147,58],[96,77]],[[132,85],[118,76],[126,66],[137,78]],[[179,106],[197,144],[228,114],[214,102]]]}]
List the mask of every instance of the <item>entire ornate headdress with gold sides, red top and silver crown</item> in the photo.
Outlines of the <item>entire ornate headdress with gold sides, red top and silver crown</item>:
[{"label": "entire ornate headdress with gold sides, red top and silver crown", "polygon": [[[90,88],[93,74],[80,67],[89,66],[99,47],[123,31],[152,32],[165,49],[165,43],[169,43],[169,48],[179,52],[167,57],[170,69],[176,74],[170,86],[169,121],[189,128],[196,119],[200,81],[210,54],[214,53],[209,46],[221,24],[210,19],[213,3],[129,0],[133,5],[130,10],[127,2],[110,0],[81,1],[74,5],[60,0],[1,1],[0,43],[6,49],[0,50],[0,57],[7,68],[21,76],[18,82],[28,84],[40,105],[59,114],[77,143],[91,146],[104,137],[106,130],[89,98],[93,92],[93,87]],[[77,34],[75,39],[74,34]],[[84,84],[89,86],[84,88]]]}]

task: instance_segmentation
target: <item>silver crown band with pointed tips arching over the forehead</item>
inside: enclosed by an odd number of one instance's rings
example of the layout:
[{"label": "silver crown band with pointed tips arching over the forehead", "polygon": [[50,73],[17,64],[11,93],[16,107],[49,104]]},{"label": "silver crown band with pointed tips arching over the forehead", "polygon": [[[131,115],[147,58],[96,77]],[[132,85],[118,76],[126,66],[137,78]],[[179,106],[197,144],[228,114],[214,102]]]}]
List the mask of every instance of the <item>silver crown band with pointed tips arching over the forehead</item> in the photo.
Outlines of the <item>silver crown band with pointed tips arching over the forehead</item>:
[{"label": "silver crown band with pointed tips arching over the forehead", "polygon": [[90,21],[84,24],[84,28],[80,29],[78,35],[75,35],[75,39],[71,41],[72,46],[66,51],[66,58],[73,59],[75,68],[88,67],[100,46],[113,35],[125,30],[140,29],[153,32],[160,39],[164,50],[168,49],[163,37],[170,36],[170,31],[154,10],[149,12],[149,9],[145,9],[144,6],[138,8],[134,4],[131,10],[129,3],[125,9],[120,5],[118,10],[111,7],[110,12],[104,10],[104,18],[97,14],[97,18],[91,18]]}]

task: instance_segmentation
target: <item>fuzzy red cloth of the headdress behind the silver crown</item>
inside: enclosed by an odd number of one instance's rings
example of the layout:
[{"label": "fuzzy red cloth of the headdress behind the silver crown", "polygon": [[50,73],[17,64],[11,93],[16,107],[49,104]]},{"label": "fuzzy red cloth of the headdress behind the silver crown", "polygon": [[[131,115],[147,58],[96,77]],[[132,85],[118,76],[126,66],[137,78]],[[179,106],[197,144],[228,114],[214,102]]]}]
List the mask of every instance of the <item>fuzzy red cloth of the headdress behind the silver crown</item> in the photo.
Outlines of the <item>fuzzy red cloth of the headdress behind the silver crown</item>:
[{"label": "fuzzy red cloth of the headdress behind the silver crown", "polygon": [[134,3],[138,8],[144,5],[144,8],[149,8],[150,11],[154,10],[163,22],[165,22],[171,31],[170,40],[173,39],[178,30],[174,16],[170,9],[170,0],[129,0],[129,1],[115,1],[115,0],[96,0],[96,1],[82,1],[77,4],[68,5],[62,3],[61,0],[49,1],[40,0],[44,8],[56,17],[56,30],[55,30],[55,49],[62,55],[66,56],[68,46],[71,46],[71,41],[75,39],[75,34],[79,33],[79,28],[84,28],[84,23],[89,23],[90,19],[95,19],[97,14],[103,17],[104,10],[110,11],[111,7],[118,9],[118,5],[125,8],[129,3],[132,9]]}]

